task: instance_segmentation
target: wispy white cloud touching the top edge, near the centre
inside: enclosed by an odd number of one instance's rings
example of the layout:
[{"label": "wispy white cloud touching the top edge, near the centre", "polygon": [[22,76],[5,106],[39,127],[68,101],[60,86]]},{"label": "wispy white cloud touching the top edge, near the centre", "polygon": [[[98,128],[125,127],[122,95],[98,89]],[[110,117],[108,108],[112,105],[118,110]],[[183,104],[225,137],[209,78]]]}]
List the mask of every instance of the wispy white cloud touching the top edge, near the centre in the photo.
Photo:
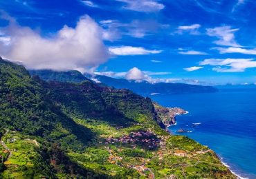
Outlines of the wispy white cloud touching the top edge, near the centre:
[{"label": "wispy white cloud touching the top edge, near the centre", "polygon": [[138,12],[158,12],[163,10],[165,6],[162,3],[158,3],[156,0],[116,0],[122,3],[126,3],[126,6],[122,6],[127,10],[134,10]]}]

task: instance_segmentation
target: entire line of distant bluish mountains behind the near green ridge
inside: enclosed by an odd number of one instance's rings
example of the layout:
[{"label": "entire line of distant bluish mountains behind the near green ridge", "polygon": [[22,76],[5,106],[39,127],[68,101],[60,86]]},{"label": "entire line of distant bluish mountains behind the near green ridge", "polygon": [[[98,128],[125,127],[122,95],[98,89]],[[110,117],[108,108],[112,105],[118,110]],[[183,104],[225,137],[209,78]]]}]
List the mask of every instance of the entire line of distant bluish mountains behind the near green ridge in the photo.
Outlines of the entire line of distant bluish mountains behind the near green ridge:
[{"label": "entire line of distant bluish mountains behind the near green ridge", "polygon": [[67,72],[55,72],[52,70],[30,70],[31,75],[37,75],[45,81],[60,81],[60,82],[74,82],[80,83],[82,81],[90,81],[96,79],[102,84],[117,89],[130,89],[132,92],[147,96],[150,94],[186,94],[186,93],[206,93],[217,92],[218,89],[211,86],[202,85],[188,85],[184,83],[149,83],[142,81],[140,83],[136,81],[128,81],[124,78],[111,78],[109,76],[85,74],[84,77],[80,72],[75,70]]}]

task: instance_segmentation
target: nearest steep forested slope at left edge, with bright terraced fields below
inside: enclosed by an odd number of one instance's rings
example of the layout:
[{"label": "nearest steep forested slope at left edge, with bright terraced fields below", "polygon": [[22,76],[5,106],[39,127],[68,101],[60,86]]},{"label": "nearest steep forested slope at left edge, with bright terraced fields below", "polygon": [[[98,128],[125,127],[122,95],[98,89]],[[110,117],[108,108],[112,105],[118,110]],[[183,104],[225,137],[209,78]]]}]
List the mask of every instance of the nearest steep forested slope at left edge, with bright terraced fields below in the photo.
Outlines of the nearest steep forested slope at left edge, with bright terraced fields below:
[{"label": "nearest steep forested slope at left edge, with bright terraced fields below", "polygon": [[[70,171],[68,167],[77,164],[71,162],[62,149],[56,150],[56,144],[65,150],[82,150],[91,140],[91,131],[55,107],[24,67],[0,60],[0,76],[3,178],[54,177],[55,170],[75,176],[79,167]],[[62,156],[55,156],[60,154]],[[59,161],[55,166],[51,166],[53,158]],[[82,169],[81,173],[86,172]]]}]

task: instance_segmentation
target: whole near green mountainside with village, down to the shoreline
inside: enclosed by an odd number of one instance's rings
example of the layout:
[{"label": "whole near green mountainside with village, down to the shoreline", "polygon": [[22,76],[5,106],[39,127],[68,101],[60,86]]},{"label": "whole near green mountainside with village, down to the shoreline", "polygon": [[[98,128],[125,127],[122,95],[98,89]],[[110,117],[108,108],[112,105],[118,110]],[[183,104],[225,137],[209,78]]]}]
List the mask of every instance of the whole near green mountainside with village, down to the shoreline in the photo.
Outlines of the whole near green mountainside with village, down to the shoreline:
[{"label": "whole near green mountainside with village, down to the shoreline", "polygon": [[47,82],[0,59],[0,102],[0,178],[235,178],[126,89]]}]

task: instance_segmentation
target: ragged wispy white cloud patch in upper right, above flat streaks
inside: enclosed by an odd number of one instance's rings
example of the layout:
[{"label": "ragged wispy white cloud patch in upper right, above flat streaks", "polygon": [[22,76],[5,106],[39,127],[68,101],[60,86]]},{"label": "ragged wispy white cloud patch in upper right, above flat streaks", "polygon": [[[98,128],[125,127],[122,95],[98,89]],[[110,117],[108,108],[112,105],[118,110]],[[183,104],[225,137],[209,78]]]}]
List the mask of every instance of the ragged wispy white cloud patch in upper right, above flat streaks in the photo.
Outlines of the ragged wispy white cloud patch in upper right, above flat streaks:
[{"label": "ragged wispy white cloud patch in upper right, above flat streaks", "polygon": [[235,41],[235,32],[239,29],[232,29],[230,26],[221,26],[207,29],[208,36],[216,36],[219,40],[214,41],[217,45],[241,47]]}]

